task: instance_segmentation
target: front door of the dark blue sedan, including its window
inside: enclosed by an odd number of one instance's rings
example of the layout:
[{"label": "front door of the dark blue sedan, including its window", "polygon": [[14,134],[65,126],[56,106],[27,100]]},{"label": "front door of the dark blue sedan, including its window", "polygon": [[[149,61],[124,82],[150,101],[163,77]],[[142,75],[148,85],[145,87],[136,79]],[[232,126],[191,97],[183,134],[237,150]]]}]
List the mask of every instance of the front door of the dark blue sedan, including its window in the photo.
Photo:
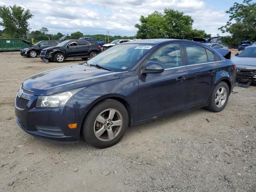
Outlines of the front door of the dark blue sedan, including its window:
[{"label": "front door of the dark blue sedan, including its window", "polygon": [[186,66],[178,43],[156,50],[140,66],[155,62],[164,67],[159,74],[139,74],[139,120],[174,112],[184,108]]}]

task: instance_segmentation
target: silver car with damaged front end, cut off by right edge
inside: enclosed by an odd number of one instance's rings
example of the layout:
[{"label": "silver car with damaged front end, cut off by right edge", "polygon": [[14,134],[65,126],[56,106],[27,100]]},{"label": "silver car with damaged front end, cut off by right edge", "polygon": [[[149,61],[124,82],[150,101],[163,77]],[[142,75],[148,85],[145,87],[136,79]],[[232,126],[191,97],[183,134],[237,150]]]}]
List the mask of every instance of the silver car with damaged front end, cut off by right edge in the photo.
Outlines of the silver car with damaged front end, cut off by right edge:
[{"label": "silver car with damaged front end, cut off by right edge", "polygon": [[236,80],[242,83],[256,84],[256,45],[236,53],[231,60],[236,64]]}]

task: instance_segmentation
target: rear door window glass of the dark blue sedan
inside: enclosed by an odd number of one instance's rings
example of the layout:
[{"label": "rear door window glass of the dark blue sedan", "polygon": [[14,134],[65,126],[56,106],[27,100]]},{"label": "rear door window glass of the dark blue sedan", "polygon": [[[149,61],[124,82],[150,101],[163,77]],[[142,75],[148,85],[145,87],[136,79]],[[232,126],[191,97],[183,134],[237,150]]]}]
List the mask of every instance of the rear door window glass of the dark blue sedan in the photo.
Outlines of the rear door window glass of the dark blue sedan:
[{"label": "rear door window glass of the dark blue sedan", "polygon": [[194,44],[185,44],[185,47],[188,55],[188,65],[208,62],[205,48]]}]

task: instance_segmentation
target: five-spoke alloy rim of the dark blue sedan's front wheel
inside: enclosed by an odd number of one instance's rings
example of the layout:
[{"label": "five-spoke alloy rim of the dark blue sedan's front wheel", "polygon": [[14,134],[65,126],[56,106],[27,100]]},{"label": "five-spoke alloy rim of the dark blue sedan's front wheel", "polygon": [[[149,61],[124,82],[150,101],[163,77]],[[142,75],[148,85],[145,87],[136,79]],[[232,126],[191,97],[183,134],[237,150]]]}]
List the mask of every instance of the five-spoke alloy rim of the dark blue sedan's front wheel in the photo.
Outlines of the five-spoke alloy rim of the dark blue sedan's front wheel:
[{"label": "five-spoke alloy rim of the dark blue sedan's front wheel", "polygon": [[123,125],[121,113],[116,109],[102,111],[94,122],[94,134],[98,140],[110,141],[116,138]]}]

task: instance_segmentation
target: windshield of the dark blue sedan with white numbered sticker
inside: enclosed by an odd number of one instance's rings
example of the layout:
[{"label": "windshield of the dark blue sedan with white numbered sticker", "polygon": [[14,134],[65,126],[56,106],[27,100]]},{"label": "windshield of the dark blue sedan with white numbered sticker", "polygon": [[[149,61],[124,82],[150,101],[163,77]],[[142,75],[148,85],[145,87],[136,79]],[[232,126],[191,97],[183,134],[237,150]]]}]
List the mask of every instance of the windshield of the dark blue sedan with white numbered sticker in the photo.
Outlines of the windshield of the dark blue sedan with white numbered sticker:
[{"label": "windshield of the dark blue sedan with white numbered sticker", "polygon": [[118,44],[94,56],[85,64],[99,65],[114,72],[127,71],[154,45]]}]

